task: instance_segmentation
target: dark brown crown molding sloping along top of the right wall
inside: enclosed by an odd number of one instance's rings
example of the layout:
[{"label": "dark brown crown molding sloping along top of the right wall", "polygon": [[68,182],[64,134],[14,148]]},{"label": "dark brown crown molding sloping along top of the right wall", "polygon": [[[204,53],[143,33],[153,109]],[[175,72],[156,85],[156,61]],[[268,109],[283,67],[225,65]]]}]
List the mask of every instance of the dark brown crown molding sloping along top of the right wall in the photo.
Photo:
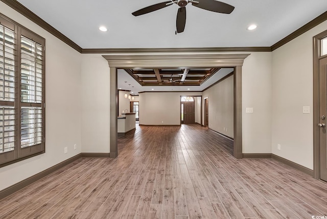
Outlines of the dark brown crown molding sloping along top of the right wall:
[{"label": "dark brown crown molding sloping along top of the right wall", "polygon": [[271,46],[271,51],[276,50],[277,48],[281,47],[282,45],[285,45],[289,41],[295,39],[296,37],[300,36],[303,33],[306,33],[307,31],[311,30],[312,28],[316,27],[317,25],[320,25],[323,21],[327,20],[327,11],[316,17],[315,19],[308,22],[306,25],[302,26],[301,28],[297,29],[287,37],[283,38],[282,40],[279,40],[275,44]]}]

